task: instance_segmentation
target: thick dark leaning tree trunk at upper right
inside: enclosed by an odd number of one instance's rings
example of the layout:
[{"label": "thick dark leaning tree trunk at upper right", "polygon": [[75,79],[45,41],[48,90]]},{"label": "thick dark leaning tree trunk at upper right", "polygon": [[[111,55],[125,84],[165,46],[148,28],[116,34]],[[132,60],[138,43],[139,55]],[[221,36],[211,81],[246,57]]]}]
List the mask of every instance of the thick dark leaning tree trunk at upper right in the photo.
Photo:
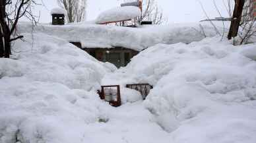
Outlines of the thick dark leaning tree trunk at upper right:
[{"label": "thick dark leaning tree trunk at upper right", "polygon": [[241,22],[241,15],[243,13],[243,5],[245,0],[235,0],[235,7],[230,24],[230,31],[228,32],[228,40],[238,36],[238,30]]}]

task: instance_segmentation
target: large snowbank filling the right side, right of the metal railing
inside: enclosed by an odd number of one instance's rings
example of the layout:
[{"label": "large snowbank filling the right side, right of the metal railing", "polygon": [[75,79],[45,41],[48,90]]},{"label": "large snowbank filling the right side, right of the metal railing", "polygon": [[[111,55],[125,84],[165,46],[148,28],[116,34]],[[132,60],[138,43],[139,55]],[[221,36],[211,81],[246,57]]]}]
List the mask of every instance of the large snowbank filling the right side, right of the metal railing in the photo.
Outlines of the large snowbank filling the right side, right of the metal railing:
[{"label": "large snowbank filling the right side, right of the metal railing", "polygon": [[255,45],[220,38],[158,44],[118,72],[125,82],[154,85],[144,102],[173,142],[256,140]]}]

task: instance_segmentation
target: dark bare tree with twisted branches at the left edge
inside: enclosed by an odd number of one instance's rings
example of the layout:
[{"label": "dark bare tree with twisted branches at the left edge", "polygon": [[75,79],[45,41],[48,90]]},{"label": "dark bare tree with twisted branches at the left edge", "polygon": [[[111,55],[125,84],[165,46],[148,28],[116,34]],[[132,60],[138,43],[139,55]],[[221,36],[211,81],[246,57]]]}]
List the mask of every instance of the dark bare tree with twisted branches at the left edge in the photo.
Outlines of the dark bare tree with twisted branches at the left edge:
[{"label": "dark bare tree with twisted branches at the left edge", "polygon": [[1,0],[0,1],[0,57],[10,57],[11,43],[23,38],[16,33],[18,20],[26,17],[36,23],[36,16],[32,14],[35,0]]}]

